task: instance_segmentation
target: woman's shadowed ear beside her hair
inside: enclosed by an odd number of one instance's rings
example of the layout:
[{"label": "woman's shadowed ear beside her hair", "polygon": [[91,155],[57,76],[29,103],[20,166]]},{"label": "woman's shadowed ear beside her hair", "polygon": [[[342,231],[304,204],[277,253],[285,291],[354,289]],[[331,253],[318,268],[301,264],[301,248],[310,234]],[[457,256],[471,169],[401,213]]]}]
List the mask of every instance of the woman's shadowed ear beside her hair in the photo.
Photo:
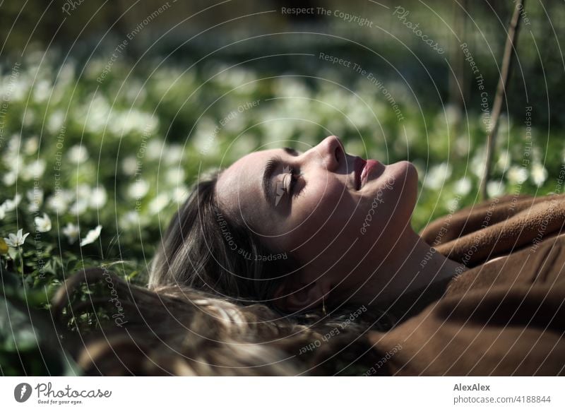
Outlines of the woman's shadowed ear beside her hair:
[{"label": "woman's shadowed ear beside her hair", "polygon": [[322,296],[326,296],[328,291],[329,287],[326,287],[321,279],[294,284],[291,280],[287,280],[275,291],[274,303],[283,311],[295,312],[304,308],[312,309],[321,305]]}]

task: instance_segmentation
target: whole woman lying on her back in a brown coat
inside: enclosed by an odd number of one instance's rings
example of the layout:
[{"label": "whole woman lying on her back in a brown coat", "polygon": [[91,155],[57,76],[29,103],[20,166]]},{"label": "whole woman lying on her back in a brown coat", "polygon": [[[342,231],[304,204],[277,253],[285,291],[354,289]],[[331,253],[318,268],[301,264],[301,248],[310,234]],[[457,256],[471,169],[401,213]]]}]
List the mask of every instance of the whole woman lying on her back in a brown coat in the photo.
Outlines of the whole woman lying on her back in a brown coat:
[{"label": "whole woman lying on her back in a brown coat", "polygon": [[246,155],[196,184],[149,290],[111,277],[125,314],[79,362],[93,374],[564,374],[565,196],[494,198],[420,234],[416,198],[410,162],[348,155],[335,136]]}]

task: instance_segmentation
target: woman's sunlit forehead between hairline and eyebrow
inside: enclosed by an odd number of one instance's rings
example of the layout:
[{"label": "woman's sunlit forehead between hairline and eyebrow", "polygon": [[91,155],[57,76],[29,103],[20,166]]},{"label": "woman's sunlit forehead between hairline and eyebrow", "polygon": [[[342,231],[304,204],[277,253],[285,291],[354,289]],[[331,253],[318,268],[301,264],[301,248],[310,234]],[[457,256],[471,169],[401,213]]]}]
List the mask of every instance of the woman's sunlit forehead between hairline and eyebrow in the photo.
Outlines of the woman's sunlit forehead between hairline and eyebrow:
[{"label": "woman's sunlit forehead between hairline and eyebrow", "polygon": [[251,218],[251,210],[263,210],[261,178],[266,162],[274,155],[281,155],[282,149],[262,150],[249,153],[227,167],[218,177],[216,196],[222,210],[232,215],[241,215],[244,220]]}]

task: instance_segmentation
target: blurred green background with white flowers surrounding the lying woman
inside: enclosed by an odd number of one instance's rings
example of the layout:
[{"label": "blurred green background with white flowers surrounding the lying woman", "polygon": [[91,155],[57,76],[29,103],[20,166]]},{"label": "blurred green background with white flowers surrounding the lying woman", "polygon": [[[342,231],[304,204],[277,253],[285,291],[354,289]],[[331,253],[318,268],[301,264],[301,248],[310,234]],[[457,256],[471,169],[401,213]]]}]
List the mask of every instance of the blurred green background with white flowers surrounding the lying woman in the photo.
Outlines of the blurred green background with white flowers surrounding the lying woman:
[{"label": "blurred green background with white flowers surrounding the lying woman", "polygon": [[[22,307],[85,266],[144,284],[191,184],[253,150],[334,134],[410,160],[415,230],[479,201],[515,4],[1,2],[1,373],[80,373],[40,355]],[[562,190],[564,22],[561,1],[525,2],[489,196]]]}]

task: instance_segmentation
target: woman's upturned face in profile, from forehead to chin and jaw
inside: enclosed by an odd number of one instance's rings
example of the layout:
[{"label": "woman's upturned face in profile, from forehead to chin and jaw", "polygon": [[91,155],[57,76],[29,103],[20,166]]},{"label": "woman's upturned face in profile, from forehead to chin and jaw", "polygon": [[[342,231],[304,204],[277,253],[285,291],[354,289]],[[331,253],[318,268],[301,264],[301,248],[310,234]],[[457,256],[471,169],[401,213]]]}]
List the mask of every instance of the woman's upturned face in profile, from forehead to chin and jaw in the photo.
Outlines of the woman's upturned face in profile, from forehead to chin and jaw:
[{"label": "woman's upturned face in profile, from forehead to chin and jaw", "polygon": [[[367,176],[366,163],[373,166]],[[417,172],[405,161],[365,162],[330,136],[304,152],[245,155],[220,174],[216,194],[220,208],[271,249],[317,270],[350,273],[368,253],[386,255],[410,225]]]}]

